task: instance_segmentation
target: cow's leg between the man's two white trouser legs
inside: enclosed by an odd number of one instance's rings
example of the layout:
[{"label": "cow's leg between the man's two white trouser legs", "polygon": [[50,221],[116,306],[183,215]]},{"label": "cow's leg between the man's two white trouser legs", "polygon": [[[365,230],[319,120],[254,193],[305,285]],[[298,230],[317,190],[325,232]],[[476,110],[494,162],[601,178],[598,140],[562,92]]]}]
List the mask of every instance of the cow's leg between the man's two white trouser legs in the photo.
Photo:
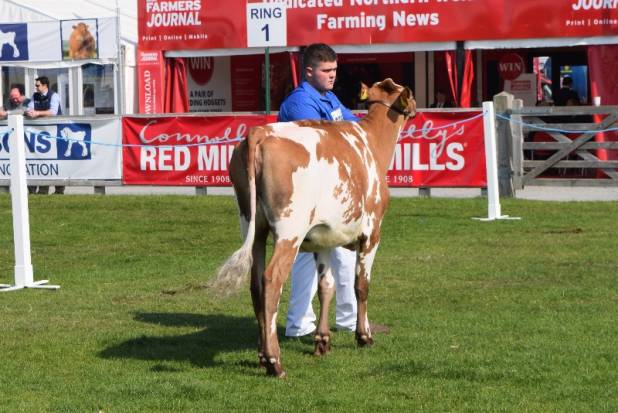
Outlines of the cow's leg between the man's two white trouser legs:
[{"label": "cow's leg between the man's two white trouser legs", "polygon": [[314,342],[316,356],[330,351],[330,329],[328,328],[328,309],[335,294],[335,279],[330,265],[330,250],[315,254],[318,270],[318,297],[320,299],[320,321],[315,332]]}]

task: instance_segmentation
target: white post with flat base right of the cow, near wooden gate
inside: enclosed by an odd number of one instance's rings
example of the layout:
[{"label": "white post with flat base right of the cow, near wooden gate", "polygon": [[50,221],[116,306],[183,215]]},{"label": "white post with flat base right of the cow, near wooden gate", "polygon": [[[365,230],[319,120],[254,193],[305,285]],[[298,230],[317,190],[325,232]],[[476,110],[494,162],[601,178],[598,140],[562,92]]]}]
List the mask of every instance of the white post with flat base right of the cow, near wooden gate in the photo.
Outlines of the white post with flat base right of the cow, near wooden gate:
[{"label": "white post with flat base right of the cow, near wooden gate", "polygon": [[481,221],[496,219],[519,219],[502,215],[500,192],[498,190],[498,155],[496,150],[496,113],[493,102],[483,102],[483,128],[485,137],[485,166],[487,169],[487,218],[475,218]]}]

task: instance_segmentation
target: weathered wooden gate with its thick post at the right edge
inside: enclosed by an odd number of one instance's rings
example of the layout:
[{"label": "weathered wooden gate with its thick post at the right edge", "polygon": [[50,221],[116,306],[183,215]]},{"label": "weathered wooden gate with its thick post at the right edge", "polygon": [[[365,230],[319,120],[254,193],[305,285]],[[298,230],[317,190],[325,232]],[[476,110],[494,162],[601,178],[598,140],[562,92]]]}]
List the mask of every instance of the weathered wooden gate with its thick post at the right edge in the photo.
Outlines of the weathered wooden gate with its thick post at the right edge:
[{"label": "weathered wooden gate with its thick post at the right edge", "polygon": [[522,107],[497,95],[501,195],[526,185],[618,186],[618,106]]}]

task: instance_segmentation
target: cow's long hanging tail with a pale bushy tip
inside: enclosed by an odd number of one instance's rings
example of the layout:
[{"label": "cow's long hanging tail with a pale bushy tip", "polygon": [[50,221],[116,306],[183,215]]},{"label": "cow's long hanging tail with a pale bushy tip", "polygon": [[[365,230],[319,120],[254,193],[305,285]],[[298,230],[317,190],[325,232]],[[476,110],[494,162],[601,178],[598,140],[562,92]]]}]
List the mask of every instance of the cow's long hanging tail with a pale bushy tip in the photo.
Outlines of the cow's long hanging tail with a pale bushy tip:
[{"label": "cow's long hanging tail with a pale bushy tip", "polygon": [[243,227],[243,233],[245,234],[245,241],[242,247],[234,252],[223,266],[221,266],[212,283],[212,287],[215,288],[216,291],[228,294],[237,291],[244,284],[247,275],[251,272],[251,266],[253,264],[253,242],[255,241],[257,208],[255,152],[259,141],[253,133],[256,129],[258,128],[254,128],[249,132],[249,137],[247,139],[246,177],[247,187],[249,189],[250,218],[248,223],[245,221],[244,224],[246,225],[241,225]]}]

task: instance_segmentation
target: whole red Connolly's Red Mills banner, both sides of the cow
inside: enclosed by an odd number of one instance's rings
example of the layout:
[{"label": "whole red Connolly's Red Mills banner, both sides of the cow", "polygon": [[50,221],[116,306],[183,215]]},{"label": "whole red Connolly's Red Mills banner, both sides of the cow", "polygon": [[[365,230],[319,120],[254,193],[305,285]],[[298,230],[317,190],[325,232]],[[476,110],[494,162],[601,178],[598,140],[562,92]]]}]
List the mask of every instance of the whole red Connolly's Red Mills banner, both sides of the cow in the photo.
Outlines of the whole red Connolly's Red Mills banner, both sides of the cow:
[{"label": "whole red Connolly's Red Mills banner, both sides of the cow", "polygon": [[[486,186],[480,112],[419,113],[405,126],[390,186]],[[229,186],[229,160],[249,128],[274,116],[124,118],[123,181],[137,185]],[[462,121],[461,123],[456,123]],[[136,145],[136,146],[135,146]],[[144,146],[141,146],[144,145]]]}]

